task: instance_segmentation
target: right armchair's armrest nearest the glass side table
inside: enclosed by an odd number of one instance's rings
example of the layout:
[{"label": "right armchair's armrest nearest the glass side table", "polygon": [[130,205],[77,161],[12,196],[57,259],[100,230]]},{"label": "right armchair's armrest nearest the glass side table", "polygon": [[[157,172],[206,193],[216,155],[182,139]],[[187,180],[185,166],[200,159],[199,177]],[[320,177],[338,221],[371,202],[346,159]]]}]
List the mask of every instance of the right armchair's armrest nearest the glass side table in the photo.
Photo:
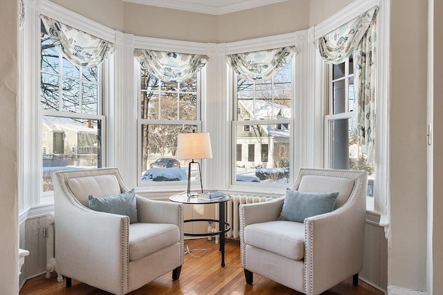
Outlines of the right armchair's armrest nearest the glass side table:
[{"label": "right armchair's armrest nearest the glass side table", "polygon": [[276,220],[282,212],[284,197],[267,202],[240,204],[240,231],[247,225],[258,222]]}]

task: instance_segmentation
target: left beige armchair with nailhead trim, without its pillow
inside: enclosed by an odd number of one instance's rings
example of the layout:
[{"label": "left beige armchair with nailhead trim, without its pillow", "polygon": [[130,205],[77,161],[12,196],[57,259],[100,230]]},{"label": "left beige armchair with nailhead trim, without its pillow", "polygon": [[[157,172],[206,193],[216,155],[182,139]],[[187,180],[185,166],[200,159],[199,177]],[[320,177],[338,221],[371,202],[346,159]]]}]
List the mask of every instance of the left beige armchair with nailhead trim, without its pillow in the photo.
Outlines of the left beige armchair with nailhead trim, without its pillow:
[{"label": "left beige armchair with nailhead trim, without its pillow", "polygon": [[[57,272],[113,294],[127,294],[183,264],[183,205],[136,196],[138,222],[89,209],[89,195],[129,191],[118,169],[53,174]],[[134,218],[135,219],[135,218]]]}]

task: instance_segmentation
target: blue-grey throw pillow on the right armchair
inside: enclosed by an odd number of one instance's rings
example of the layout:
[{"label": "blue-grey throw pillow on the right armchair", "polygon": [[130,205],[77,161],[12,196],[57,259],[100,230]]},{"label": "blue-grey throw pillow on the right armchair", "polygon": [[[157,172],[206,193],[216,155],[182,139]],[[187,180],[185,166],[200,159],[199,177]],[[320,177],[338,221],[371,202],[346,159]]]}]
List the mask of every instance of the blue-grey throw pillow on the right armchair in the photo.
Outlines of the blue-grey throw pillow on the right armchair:
[{"label": "blue-grey throw pillow on the right armchair", "polygon": [[280,220],[304,222],[305,218],[334,210],[338,193],[286,191]]}]

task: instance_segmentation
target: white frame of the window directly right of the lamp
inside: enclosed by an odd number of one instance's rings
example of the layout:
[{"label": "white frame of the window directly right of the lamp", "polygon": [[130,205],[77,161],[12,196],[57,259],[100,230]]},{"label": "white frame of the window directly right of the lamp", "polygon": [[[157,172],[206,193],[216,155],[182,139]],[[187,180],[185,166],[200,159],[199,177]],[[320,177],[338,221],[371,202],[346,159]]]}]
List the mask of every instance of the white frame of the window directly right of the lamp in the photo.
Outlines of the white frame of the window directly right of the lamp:
[{"label": "white frame of the window directly right of the lamp", "polygon": [[[295,177],[300,169],[300,166],[314,165],[314,152],[310,148],[314,146],[314,132],[313,124],[309,123],[312,117],[307,112],[312,111],[314,102],[307,99],[309,96],[308,89],[305,85],[313,80],[312,73],[306,73],[303,66],[305,66],[311,58],[308,50],[310,49],[307,38],[307,30],[298,32],[275,35],[272,37],[263,37],[257,39],[249,39],[244,41],[237,41],[226,44],[226,54],[248,53],[258,50],[266,50],[273,48],[281,48],[284,46],[296,46],[297,53],[292,59],[292,106],[291,117],[284,120],[249,120],[249,121],[235,121],[237,115],[237,77],[233,70],[228,66],[227,71],[227,85],[228,85],[228,102],[227,107],[230,110],[230,145],[227,146],[231,158],[230,166],[228,166],[228,184],[227,189],[236,192],[252,193],[252,194],[267,194],[269,196],[282,196],[284,190],[293,186]],[[312,62],[312,64],[314,64]],[[289,183],[248,183],[236,181],[236,138],[235,128],[245,124],[290,124],[290,140],[289,140],[289,163],[291,165],[289,174]],[[257,150],[258,151],[258,150]],[[261,154],[260,154],[261,155]]]}]

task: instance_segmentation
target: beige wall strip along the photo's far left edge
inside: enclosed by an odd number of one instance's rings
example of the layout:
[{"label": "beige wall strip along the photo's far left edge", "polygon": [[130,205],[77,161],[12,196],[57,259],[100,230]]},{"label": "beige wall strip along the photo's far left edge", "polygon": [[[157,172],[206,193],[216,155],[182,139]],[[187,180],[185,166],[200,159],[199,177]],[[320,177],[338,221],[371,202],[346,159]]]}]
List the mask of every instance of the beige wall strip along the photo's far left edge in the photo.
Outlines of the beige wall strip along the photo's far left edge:
[{"label": "beige wall strip along the photo's far left edge", "polygon": [[19,292],[17,102],[19,1],[0,1],[0,294]]}]

